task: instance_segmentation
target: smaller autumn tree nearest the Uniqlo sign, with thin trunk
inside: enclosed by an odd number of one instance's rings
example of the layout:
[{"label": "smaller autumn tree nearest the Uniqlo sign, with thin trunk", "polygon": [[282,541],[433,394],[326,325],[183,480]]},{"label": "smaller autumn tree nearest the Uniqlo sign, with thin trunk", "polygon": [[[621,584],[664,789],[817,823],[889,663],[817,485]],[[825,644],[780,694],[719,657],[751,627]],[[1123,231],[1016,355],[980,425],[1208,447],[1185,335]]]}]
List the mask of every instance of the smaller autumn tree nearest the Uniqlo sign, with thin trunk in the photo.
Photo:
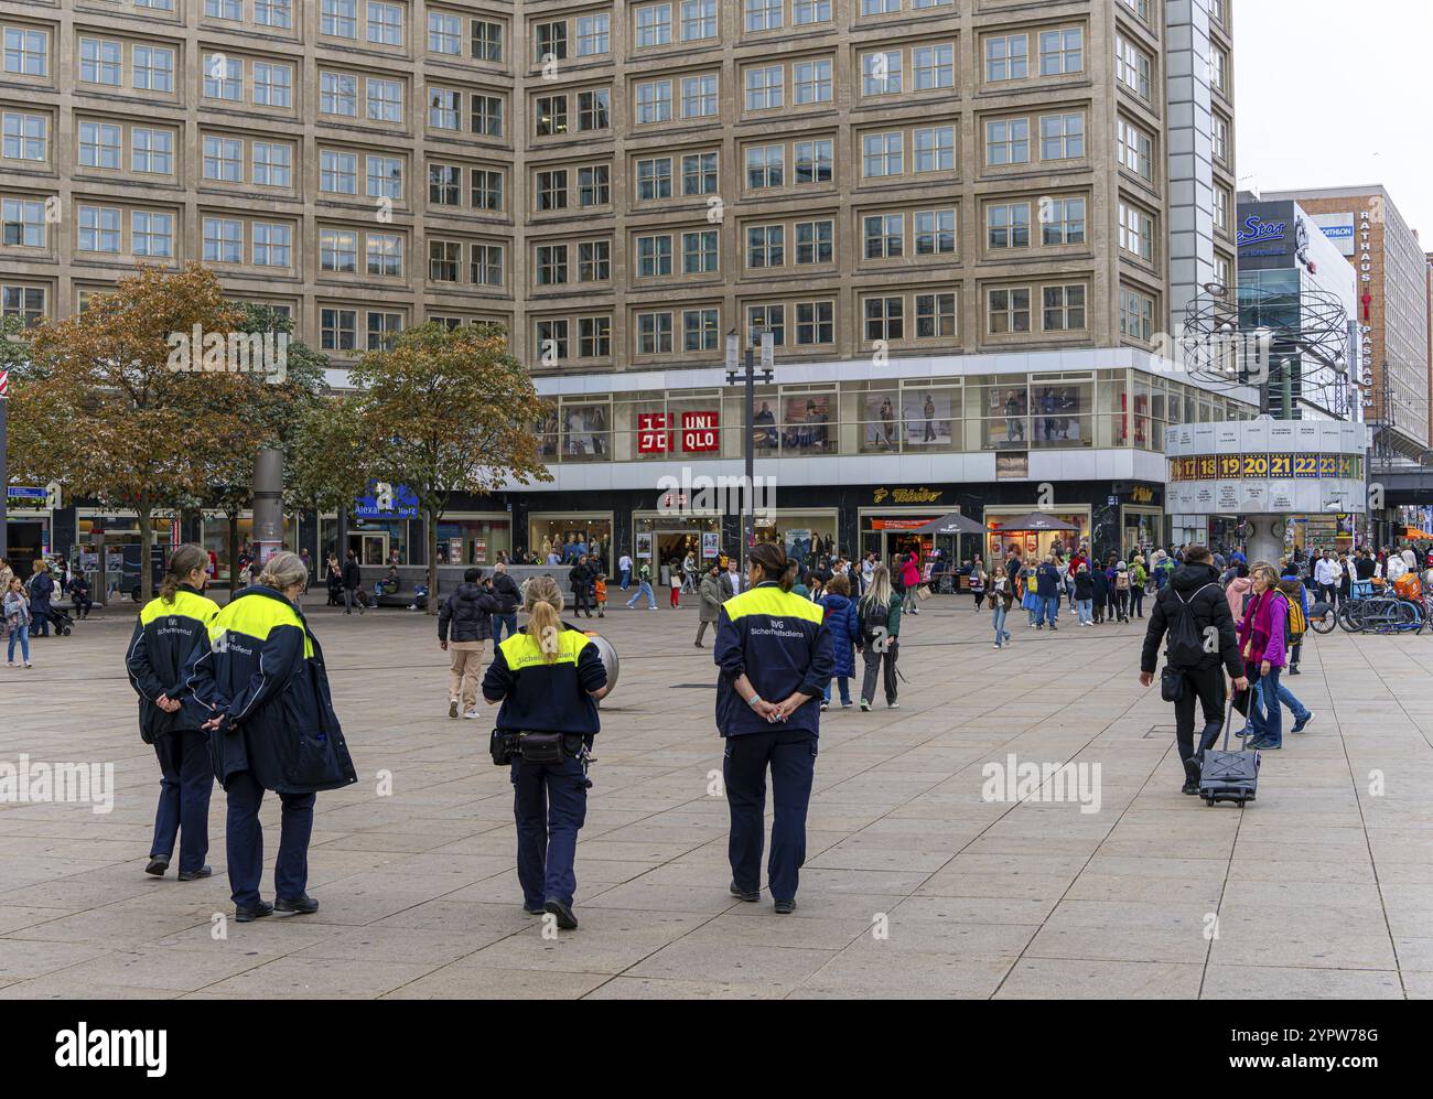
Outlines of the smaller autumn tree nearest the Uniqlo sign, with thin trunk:
[{"label": "smaller autumn tree nearest the Uniqlo sign, with thin trunk", "polygon": [[437,524],[449,500],[552,480],[533,433],[549,405],[496,324],[408,328],[391,350],[365,354],[351,377],[361,463],[417,496],[428,612],[437,613]]}]

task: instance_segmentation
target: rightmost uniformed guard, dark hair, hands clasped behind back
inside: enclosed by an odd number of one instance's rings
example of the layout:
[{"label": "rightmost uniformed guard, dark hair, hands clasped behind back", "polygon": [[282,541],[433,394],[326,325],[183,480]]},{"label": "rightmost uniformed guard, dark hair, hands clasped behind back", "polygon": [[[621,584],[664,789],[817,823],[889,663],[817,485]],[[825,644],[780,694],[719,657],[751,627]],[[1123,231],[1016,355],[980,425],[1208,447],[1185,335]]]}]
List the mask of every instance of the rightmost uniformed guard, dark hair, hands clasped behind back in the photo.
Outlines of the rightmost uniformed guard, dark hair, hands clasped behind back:
[{"label": "rightmost uniformed guard, dark hair, hands clasped behind back", "polygon": [[788,914],[805,863],[818,699],[835,661],[821,608],[791,595],[795,562],[771,542],[752,546],[749,562],[749,587],[722,605],[712,653],[721,669],[716,728],[727,741],[728,890],[744,901],[761,898],[770,769],[775,815],[767,880],[777,913]]}]

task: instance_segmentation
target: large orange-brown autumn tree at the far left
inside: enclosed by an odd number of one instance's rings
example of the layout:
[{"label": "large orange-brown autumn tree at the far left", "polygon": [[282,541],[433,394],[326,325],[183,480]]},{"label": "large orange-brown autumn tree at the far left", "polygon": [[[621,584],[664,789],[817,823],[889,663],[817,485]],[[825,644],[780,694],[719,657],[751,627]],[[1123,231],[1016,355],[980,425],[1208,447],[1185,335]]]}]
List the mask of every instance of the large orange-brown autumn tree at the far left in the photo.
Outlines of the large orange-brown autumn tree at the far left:
[{"label": "large orange-brown autumn tree at the far left", "polygon": [[[33,330],[32,364],[10,408],[16,470],[135,512],[142,599],[152,596],[155,512],[202,500],[216,476],[239,456],[252,463],[271,437],[254,378],[226,360],[242,322],[218,279],[189,264],[140,267],[83,312]],[[201,361],[183,344],[195,334]]]}]

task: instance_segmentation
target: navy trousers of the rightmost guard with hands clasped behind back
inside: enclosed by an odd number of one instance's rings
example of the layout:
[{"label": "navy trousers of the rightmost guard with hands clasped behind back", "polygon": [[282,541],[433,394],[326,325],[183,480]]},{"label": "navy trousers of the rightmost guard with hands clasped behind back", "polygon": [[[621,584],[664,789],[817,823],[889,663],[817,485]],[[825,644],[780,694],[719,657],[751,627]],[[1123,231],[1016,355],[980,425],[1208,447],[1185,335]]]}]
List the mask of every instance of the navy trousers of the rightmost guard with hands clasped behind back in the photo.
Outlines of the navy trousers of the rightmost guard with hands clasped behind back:
[{"label": "navy trousers of the rightmost guard with hands clasped behind back", "polygon": [[772,900],[795,900],[805,863],[805,814],[815,777],[817,738],[804,729],[748,732],[727,738],[722,777],[731,838],[727,857],[737,888],[761,888],[761,848],[767,832],[767,768],[771,768],[771,857],[767,881]]}]

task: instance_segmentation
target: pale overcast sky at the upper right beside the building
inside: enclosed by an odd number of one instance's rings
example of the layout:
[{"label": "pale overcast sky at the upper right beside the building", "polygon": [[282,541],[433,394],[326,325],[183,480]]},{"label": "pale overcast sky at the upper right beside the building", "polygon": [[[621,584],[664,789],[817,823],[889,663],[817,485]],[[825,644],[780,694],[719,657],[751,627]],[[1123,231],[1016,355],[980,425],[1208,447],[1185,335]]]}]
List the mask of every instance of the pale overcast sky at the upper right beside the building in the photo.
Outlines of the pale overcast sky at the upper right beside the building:
[{"label": "pale overcast sky at the upper right beside the building", "polygon": [[1433,251],[1433,4],[1235,0],[1240,188],[1383,183]]}]

